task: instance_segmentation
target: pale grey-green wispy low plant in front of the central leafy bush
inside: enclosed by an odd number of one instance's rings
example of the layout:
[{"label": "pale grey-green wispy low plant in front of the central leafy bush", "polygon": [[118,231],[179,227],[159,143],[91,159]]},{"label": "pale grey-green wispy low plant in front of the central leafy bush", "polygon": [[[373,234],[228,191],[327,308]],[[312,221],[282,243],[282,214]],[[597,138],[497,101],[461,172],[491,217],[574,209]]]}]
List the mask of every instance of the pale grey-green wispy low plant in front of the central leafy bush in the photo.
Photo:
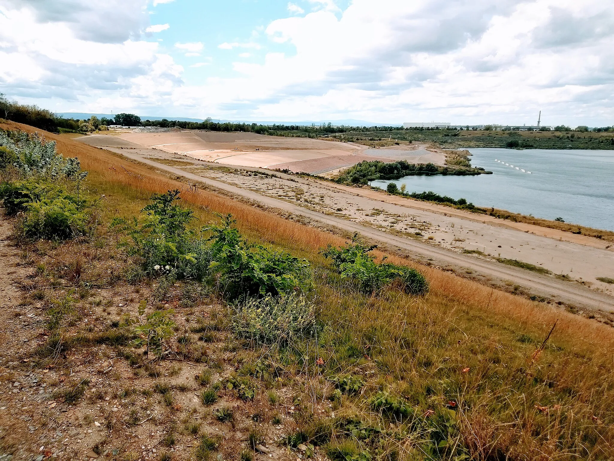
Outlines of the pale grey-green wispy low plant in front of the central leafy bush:
[{"label": "pale grey-green wispy low plant in front of the central leafy bush", "polygon": [[316,308],[302,294],[247,299],[233,316],[239,337],[262,342],[287,343],[316,330]]}]

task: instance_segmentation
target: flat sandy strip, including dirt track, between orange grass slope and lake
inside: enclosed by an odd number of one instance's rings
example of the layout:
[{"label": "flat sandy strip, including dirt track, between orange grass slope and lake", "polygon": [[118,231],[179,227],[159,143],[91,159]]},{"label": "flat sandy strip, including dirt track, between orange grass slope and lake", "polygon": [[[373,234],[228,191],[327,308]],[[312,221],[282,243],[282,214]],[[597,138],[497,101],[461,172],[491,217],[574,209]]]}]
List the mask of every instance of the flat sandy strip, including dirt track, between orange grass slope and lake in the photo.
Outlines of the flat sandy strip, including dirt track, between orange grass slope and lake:
[{"label": "flat sandy strip, including dirt track, between orange grass slope and lake", "polygon": [[[91,138],[84,140],[91,143]],[[422,261],[508,281],[537,296],[577,307],[614,310],[611,285],[596,280],[596,277],[611,277],[608,274],[614,274],[614,254],[601,242],[595,246],[583,244],[593,243],[594,238],[566,242],[562,238],[545,236],[548,232],[542,227],[524,224],[526,229],[523,232],[502,224],[500,220],[489,222],[480,217],[476,219],[469,213],[446,210],[444,207],[439,210],[425,209],[427,204],[413,200],[394,198],[390,201],[395,203],[389,203],[382,200],[389,198],[383,194],[380,194],[382,199],[365,197],[361,194],[362,189],[337,187],[315,179],[295,178],[281,173],[275,177],[254,175],[250,171],[229,170],[222,165],[216,167],[211,163],[185,162],[183,156],[173,156],[158,149],[107,148],[159,170],[208,184],[267,207],[305,216],[348,232],[359,232],[365,237],[400,248]],[[168,165],[173,162],[181,168]],[[453,211],[454,215],[446,211]],[[421,235],[416,235],[416,232]],[[427,240],[427,237],[433,239]],[[519,269],[494,261],[494,258],[518,259],[550,270],[553,274],[543,275]],[[555,277],[554,274],[562,277]],[[592,286],[592,289],[588,286]]]}]

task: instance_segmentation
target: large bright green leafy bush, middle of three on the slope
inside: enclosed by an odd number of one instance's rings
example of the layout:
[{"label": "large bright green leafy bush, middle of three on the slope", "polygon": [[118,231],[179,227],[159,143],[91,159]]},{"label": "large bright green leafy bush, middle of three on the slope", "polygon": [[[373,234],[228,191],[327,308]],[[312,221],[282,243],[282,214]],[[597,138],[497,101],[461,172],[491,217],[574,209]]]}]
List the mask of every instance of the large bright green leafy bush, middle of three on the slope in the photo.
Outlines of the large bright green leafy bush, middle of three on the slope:
[{"label": "large bright green leafy bush, middle of three on the slope", "polygon": [[234,223],[227,215],[220,226],[206,229],[212,232],[211,269],[218,275],[226,296],[278,296],[305,288],[309,277],[306,259],[249,243],[233,227]]}]

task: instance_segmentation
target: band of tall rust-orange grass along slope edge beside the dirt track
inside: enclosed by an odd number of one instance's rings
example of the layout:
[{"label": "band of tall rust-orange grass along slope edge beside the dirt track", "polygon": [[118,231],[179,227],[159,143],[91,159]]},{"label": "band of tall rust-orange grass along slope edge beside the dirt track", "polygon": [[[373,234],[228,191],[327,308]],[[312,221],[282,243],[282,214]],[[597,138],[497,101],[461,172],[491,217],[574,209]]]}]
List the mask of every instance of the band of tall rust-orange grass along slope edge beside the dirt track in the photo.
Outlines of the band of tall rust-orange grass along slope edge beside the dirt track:
[{"label": "band of tall rust-orange grass along slope edge beside the dirt track", "polygon": [[[0,124],[0,127],[21,129],[26,132],[41,132],[33,127],[13,122]],[[346,241],[337,235],[271,215],[271,213],[219,194],[200,189],[194,192],[181,181],[166,178],[143,165],[115,156],[112,152],[77,143],[53,133],[45,132],[45,137],[56,141],[58,151],[64,156],[79,157],[82,168],[90,171],[92,185],[104,186],[107,195],[125,195],[130,191],[130,195],[144,203],[154,192],[161,193],[177,188],[182,191],[184,202],[202,207],[206,211],[231,213],[238,220],[238,227],[242,231],[252,235],[257,234],[261,240],[286,246],[297,253],[317,253],[328,243],[343,245]],[[126,205],[125,201],[122,203]],[[141,207],[138,202],[127,205],[128,207],[133,205],[133,208],[135,205]],[[115,208],[113,211],[125,214],[134,210]],[[378,254],[383,255],[384,253],[379,252]],[[542,331],[546,332],[549,326],[560,318],[555,336],[565,337],[583,347],[590,347],[592,344],[593,347],[601,349],[604,344],[614,345],[614,332],[607,326],[569,313],[545,308],[536,302],[527,301],[512,294],[492,290],[480,283],[457,277],[443,270],[422,266],[394,255],[387,254],[387,256],[391,262],[411,266],[423,272],[429,279],[433,293],[484,309],[486,312],[501,313],[521,325],[539,326]]]}]

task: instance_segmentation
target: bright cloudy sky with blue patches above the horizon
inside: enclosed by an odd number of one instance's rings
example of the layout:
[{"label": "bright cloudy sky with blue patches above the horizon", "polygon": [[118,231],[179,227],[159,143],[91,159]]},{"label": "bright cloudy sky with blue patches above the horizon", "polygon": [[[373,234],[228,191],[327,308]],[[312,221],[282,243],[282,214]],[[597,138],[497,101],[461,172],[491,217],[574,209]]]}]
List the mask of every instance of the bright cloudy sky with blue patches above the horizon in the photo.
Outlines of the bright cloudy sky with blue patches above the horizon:
[{"label": "bright cloudy sky with blue patches above the horizon", "polygon": [[614,124],[613,0],[0,0],[0,92],[56,112]]}]

